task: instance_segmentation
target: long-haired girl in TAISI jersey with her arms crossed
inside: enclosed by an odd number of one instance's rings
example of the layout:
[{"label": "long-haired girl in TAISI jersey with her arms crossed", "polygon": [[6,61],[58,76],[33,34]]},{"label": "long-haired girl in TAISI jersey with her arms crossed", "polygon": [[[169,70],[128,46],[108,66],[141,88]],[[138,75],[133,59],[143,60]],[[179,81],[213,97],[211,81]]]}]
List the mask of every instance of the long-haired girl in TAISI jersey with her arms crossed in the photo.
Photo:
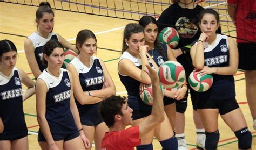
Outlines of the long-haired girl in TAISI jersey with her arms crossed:
[{"label": "long-haired girl in TAISI jersey with her arms crossed", "polygon": [[[85,135],[100,149],[105,132],[109,131],[98,112],[99,102],[105,97],[116,94],[114,82],[104,62],[93,56],[97,51],[97,39],[90,30],[77,34],[77,58],[73,59],[68,70],[73,74],[74,93]],[[89,148],[91,149],[91,147]]]}]

